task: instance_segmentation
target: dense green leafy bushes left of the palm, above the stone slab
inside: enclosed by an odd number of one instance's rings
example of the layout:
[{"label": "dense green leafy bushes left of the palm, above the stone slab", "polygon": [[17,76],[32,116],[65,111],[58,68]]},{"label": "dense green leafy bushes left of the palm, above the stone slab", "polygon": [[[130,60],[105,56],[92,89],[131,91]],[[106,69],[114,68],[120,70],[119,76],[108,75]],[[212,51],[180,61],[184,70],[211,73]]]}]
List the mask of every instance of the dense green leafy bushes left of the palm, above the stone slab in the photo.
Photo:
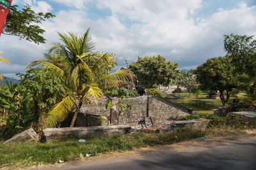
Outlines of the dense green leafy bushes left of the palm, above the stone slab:
[{"label": "dense green leafy bushes left of the palm, above the stone slab", "polygon": [[29,69],[19,76],[19,83],[6,81],[0,92],[0,107],[7,111],[3,131],[13,134],[29,126],[41,131],[47,111],[65,97],[67,87],[51,69]]}]

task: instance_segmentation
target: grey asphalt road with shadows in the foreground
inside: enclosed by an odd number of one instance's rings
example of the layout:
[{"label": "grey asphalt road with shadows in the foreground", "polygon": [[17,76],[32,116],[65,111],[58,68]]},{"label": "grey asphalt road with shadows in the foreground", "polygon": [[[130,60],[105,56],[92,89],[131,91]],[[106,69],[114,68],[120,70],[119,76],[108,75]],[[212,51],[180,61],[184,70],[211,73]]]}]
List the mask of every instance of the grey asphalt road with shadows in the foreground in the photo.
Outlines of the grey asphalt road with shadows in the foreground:
[{"label": "grey asphalt road with shadows in the foreground", "polygon": [[46,169],[256,169],[256,137],[221,143],[183,143],[71,162]]}]

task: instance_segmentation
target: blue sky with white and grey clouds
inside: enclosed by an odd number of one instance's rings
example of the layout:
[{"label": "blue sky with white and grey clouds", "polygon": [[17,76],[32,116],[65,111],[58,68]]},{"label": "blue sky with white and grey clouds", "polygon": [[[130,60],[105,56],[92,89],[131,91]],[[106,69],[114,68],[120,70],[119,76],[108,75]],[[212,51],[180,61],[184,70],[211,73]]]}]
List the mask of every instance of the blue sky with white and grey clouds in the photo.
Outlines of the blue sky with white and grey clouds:
[{"label": "blue sky with white and grey clouds", "polygon": [[256,36],[256,0],[13,0],[20,7],[56,17],[43,22],[45,44],[0,37],[0,73],[24,73],[31,60],[42,59],[51,43],[60,42],[57,31],[83,34],[89,27],[98,52],[113,52],[118,66],[138,56],[163,55],[180,69],[195,69],[212,57],[224,56],[224,34]]}]

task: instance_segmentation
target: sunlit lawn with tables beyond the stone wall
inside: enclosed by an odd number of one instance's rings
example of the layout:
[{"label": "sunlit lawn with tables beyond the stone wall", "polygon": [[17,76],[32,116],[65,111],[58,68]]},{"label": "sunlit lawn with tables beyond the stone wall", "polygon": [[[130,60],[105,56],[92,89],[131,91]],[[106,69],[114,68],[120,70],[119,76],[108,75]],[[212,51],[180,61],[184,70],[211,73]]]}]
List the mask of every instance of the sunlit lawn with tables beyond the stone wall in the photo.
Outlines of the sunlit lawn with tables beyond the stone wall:
[{"label": "sunlit lawn with tables beyond the stone wall", "polygon": [[[177,96],[178,94],[176,94]],[[187,96],[185,94],[185,96]],[[221,99],[209,99],[206,97],[207,93],[201,93],[197,98],[195,98],[195,96],[193,96],[193,94],[191,94],[191,97],[184,97],[183,99],[170,99],[170,101],[175,102],[175,103],[179,103],[182,106],[185,106],[186,108],[193,108],[194,112],[197,113],[213,113],[214,109],[223,107],[222,103],[221,103]],[[167,97],[167,96],[164,96]],[[211,101],[214,104],[214,107],[212,108],[211,104],[205,104],[205,108],[203,106],[191,106],[189,105],[189,100],[194,100],[194,99],[198,99],[201,101]],[[227,106],[230,106],[230,104],[232,104],[232,97],[230,97],[230,99],[228,100]]]}]

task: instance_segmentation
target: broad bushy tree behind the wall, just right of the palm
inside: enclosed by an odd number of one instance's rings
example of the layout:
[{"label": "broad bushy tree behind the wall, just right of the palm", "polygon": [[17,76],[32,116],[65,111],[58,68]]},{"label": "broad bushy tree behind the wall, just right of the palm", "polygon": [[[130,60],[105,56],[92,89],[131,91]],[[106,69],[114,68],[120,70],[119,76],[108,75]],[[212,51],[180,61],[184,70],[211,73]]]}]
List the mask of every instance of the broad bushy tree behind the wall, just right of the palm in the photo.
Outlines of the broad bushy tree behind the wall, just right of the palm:
[{"label": "broad bushy tree behind the wall, just right of the palm", "polygon": [[167,61],[163,56],[138,57],[136,62],[129,65],[129,69],[136,75],[140,85],[153,87],[155,84],[167,86],[177,79],[179,69],[177,62]]}]

